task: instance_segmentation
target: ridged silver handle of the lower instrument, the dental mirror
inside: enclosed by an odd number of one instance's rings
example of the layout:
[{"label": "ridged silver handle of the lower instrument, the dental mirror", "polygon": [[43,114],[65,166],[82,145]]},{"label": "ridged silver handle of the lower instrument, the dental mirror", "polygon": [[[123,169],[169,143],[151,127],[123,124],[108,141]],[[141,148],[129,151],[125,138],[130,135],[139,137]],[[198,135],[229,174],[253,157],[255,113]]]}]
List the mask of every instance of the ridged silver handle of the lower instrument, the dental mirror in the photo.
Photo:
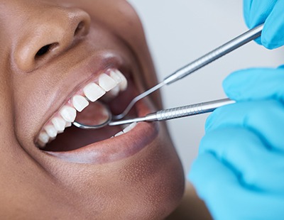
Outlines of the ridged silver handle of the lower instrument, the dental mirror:
[{"label": "ridged silver handle of the lower instrument, the dental mirror", "polygon": [[136,119],[126,119],[121,121],[111,121],[109,126],[118,126],[126,123],[140,122],[140,121],[165,121],[170,119],[179,119],[187,116],[194,116],[197,114],[205,114],[214,111],[215,109],[233,104],[235,101],[231,99],[219,99],[214,101],[207,101],[198,104],[191,104],[188,106],[180,106],[173,109],[165,109],[147,114],[144,117]]}]

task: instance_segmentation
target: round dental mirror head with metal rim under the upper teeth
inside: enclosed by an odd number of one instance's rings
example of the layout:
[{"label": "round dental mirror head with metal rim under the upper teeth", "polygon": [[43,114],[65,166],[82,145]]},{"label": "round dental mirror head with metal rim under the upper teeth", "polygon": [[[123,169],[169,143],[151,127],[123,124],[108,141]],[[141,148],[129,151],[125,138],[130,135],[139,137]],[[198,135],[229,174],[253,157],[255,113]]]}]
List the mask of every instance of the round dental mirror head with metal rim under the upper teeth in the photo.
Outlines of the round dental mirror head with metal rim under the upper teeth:
[{"label": "round dental mirror head with metal rim under the upper teeth", "polygon": [[82,114],[77,114],[73,125],[82,129],[99,129],[107,126],[111,118],[109,108],[102,102],[96,101],[84,109]]}]

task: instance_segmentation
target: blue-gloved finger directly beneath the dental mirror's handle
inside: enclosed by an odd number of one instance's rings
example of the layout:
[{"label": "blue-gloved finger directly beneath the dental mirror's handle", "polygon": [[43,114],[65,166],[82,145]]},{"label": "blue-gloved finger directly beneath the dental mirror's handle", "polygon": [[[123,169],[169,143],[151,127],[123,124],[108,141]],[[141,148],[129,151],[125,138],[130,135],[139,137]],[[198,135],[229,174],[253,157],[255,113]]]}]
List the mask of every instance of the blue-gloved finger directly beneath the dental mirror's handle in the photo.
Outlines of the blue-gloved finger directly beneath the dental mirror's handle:
[{"label": "blue-gloved finger directly beneath the dental mirror's handle", "polygon": [[273,150],[284,151],[284,106],[279,101],[238,102],[216,109],[207,119],[207,132],[228,126],[247,128]]}]

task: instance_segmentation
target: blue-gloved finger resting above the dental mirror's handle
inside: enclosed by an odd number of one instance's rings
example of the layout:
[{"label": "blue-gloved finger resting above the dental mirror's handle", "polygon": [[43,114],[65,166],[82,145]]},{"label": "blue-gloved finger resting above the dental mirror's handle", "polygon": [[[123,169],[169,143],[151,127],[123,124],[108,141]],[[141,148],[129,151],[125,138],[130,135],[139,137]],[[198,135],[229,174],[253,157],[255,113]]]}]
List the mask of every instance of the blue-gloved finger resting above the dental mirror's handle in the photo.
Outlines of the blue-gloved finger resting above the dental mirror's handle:
[{"label": "blue-gloved finger resting above the dental mirror's handle", "polygon": [[284,69],[253,68],[233,72],[223,81],[226,95],[236,101],[276,98],[284,101]]}]

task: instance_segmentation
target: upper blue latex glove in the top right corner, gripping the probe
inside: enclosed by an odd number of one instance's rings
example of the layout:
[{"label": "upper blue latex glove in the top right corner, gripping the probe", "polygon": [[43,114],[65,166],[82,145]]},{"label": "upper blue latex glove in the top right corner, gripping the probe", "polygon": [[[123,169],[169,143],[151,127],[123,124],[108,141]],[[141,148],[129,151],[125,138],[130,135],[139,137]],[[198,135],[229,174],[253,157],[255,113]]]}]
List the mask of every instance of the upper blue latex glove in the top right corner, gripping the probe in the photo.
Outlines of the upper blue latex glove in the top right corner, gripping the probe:
[{"label": "upper blue latex glove in the top right corner, gripping the probe", "polygon": [[264,23],[261,38],[257,43],[268,49],[284,45],[284,1],[244,0],[244,18],[249,28]]}]

